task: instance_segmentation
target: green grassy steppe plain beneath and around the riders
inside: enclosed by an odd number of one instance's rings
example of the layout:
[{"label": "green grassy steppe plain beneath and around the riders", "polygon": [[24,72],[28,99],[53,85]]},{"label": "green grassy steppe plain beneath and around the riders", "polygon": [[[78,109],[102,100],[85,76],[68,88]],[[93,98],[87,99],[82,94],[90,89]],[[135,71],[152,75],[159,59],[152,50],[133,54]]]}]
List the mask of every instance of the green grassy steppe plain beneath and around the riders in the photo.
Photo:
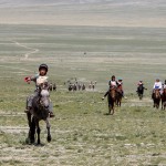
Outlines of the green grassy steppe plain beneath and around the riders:
[{"label": "green grassy steppe plain beneath and around the riders", "polygon": [[[165,112],[152,107],[156,77],[165,79],[165,29],[53,25],[0,25],[0,165],[166,165]],[[33,53],[34,52],[34,53]],[[86,54],[84,55],[84,52]],[[58,83],[51,93],[53,141],[25,145],[23,114],[34,86],[23,77],[45,62]],[[107,113],[101,101],[112,74],[124,79],[127,100]],[[69,93],[64,81],[97,81],[95,92]],[[139,102],[136,83],[148,91]]]}]

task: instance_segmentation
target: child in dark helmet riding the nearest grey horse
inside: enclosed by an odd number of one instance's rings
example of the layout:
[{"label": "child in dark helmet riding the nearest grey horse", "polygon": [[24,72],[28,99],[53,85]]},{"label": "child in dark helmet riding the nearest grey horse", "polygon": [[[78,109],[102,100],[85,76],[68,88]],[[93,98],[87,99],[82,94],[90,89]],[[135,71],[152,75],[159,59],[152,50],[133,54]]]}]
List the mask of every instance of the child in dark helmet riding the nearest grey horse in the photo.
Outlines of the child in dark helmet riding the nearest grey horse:
[{"label": "child in dark helmet riding the nearest grey horse", "polygon": [[[30,83],[31,81],[35,83],[35,90],[34,90],[34,94],[28,97],[27,100],[27,110],[24,111],[25,113],[28,113],[32,108],[32,100],[39,95],[39,86],[41,84],[48,84],[48,76],[46,76],[48,70],[49,68],[46,64],[41,64],[39,66],[39,74],[32,77],[28,77],[27,80],[28,83]],[[49,112],[50,112],[50,117],[54,117],[54,114],[52,111],[52,103],[50,103],[49,105]]]}]

